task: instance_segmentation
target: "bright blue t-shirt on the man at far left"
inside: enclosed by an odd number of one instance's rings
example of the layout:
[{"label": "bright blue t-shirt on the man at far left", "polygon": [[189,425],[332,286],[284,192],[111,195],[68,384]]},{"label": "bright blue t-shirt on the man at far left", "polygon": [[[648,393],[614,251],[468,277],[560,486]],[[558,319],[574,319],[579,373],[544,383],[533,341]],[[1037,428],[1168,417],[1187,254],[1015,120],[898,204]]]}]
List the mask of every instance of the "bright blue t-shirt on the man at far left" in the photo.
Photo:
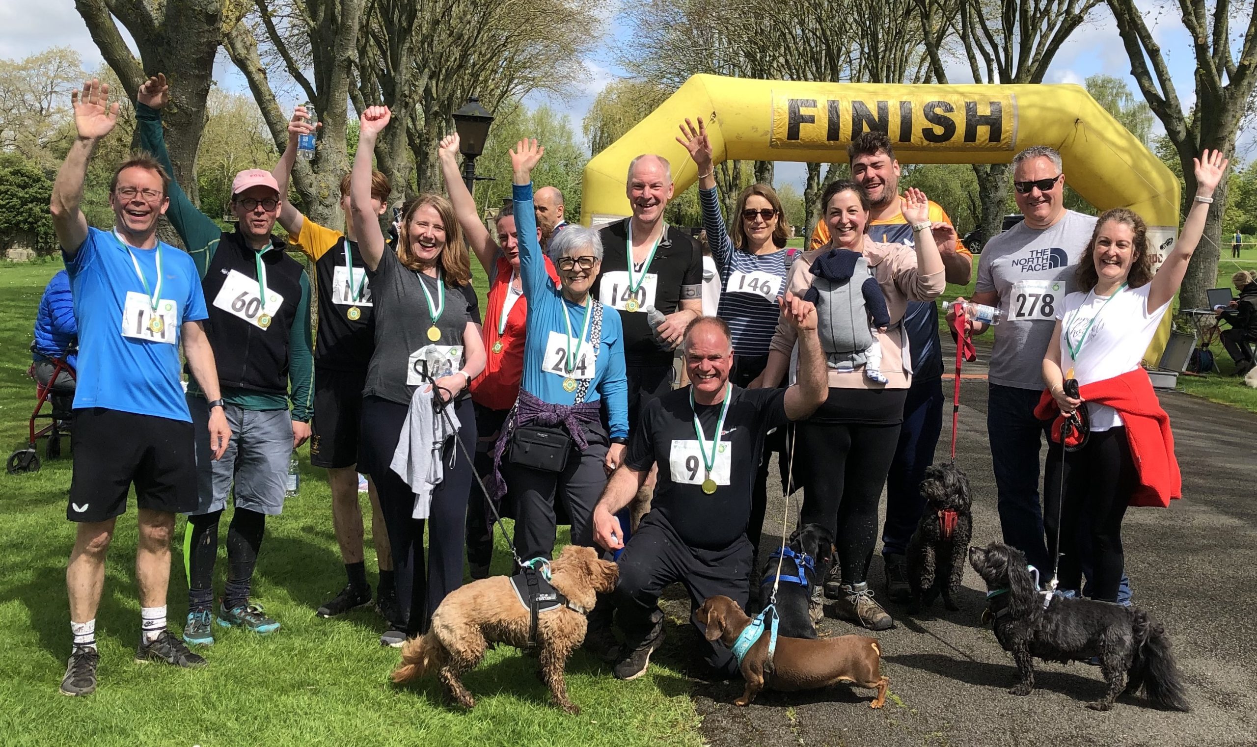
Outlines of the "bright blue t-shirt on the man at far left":
[{"label": "bright blue t-shirt on the man at far left", "polygon": [[[148,299],[157,282],[158,250],[127,249],[113,232],[88,228],[74,256],[65,256],[79,329],[74,408],[191,422],[180,384],[178,338],[185,321],[209,316],[201,277],[192,257],[161,244],[162,321],[153,325]],[[128,293],[134,294],[131,306]]]}]

